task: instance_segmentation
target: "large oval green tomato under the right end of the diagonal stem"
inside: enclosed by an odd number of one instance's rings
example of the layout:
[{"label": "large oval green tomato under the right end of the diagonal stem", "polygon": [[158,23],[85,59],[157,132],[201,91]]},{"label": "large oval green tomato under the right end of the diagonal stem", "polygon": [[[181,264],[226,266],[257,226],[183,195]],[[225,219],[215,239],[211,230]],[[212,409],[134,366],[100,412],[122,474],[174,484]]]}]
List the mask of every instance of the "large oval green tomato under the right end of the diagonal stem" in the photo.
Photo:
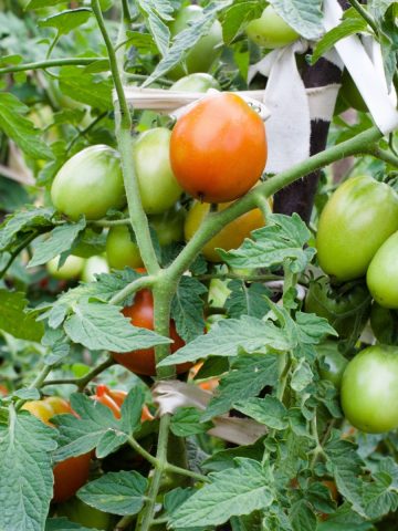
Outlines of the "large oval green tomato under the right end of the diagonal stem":
[{"label": "large oval green tomato under the right end of the diagonal stem", "polygon": [[353,177],[337,188],[321,214],[320,266],[337,281],[358,279],[396,230],[398,195],[371,177]]}]

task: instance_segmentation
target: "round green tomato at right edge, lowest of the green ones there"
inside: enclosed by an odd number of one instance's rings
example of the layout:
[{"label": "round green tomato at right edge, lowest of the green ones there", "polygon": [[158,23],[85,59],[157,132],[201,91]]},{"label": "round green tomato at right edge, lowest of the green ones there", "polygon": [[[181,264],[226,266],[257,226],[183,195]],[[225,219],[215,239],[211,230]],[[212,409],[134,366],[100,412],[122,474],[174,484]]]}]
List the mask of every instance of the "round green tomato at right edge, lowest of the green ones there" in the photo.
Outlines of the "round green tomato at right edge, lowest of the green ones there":
[{"label": "round green tomato at right edge, lowest of the green ones there", "polygon": [[398,427],[398,350],[369,346],[352,360],[342,381],[342,407],[349,423],[368,434]]}]

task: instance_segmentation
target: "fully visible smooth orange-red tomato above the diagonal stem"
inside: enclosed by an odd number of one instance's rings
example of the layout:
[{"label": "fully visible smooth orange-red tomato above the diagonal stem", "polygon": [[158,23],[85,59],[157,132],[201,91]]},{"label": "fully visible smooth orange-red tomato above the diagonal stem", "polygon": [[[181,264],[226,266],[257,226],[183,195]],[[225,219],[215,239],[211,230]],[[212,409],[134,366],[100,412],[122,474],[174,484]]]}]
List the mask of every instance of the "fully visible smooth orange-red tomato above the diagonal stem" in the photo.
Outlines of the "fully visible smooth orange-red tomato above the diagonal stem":
[{"label": "fully visible smooth orange-red tomato above the diagonal stem", "polygon": [[171,133],[170,160],[177,180],[206,202],[243,196],[260,179],[266,154],[261,117],[232,93],[200,100]]}]

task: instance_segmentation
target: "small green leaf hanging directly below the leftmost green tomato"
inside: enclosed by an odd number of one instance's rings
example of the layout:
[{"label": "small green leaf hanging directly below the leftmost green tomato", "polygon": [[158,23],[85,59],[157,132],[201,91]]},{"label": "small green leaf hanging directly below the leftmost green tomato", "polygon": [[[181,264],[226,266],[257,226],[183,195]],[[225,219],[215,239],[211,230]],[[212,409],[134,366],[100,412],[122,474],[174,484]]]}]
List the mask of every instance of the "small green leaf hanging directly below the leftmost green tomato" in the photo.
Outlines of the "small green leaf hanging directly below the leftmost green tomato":
[{"label": "small green leaf hanging directly below the leftmost green tomato", "polygon": [[74,240],[84,229],[84,219],[81,219],[77,223],[65,223],[55,227],[48,238],[35,246],[33,257],[29,261],[28,268],[46,263],[62,252],[69,251]]}]

